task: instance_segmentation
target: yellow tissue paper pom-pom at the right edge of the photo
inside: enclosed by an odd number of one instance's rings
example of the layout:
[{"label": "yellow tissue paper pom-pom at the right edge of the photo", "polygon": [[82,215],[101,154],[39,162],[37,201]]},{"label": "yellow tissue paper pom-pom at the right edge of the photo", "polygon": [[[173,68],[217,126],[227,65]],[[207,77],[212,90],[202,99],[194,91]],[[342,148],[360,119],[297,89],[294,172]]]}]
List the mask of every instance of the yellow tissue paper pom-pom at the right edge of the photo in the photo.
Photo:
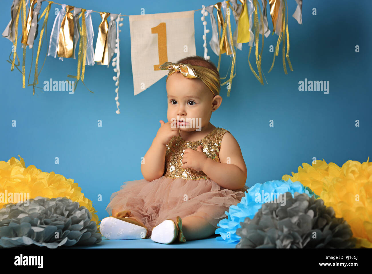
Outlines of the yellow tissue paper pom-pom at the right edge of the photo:
[{"label": "yellow tissue paper pom-pom at the right edge of the photo", "polygon": [[303,163],[298,173],[283,175],[283,180],[299,181],[320,195],[327,207],[333,207],[337,218],[350,224],[357,238],[356,248],[372,248],[372,163],[349,160],[337,166],[324,159],[310,166]]}]

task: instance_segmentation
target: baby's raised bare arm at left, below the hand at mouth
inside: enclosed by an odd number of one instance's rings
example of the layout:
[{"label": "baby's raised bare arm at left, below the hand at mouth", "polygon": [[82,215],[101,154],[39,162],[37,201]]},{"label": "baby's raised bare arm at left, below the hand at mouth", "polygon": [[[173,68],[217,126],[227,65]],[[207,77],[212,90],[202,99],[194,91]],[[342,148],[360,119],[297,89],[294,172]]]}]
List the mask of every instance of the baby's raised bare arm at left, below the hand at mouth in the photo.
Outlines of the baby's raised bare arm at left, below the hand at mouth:
[{"label": "baby's raised bare arm at left, below the hand at mouth", "polygon": [[155,137],[145,154],[144,163],[141,164],[141,172],[145,180],[151,182],[163,176],[166,149],[166,145]]}]

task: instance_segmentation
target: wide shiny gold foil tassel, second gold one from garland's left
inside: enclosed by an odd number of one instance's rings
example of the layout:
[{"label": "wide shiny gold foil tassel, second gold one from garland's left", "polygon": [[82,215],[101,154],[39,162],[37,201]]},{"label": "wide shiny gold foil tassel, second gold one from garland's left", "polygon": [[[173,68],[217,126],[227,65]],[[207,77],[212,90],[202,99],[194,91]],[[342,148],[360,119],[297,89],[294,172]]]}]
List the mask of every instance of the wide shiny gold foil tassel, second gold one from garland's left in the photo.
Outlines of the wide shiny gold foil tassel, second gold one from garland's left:
[{"label": "wide shiny gold foil tassel, second gold one from garland's left", "polygon": [[[66,6],[66,14],[62,19],[58,40],[58,57],[70,58],[74,49],[74,20],[71,11],[73,6]],[[67,22],[66,22],[67,21]]]}]

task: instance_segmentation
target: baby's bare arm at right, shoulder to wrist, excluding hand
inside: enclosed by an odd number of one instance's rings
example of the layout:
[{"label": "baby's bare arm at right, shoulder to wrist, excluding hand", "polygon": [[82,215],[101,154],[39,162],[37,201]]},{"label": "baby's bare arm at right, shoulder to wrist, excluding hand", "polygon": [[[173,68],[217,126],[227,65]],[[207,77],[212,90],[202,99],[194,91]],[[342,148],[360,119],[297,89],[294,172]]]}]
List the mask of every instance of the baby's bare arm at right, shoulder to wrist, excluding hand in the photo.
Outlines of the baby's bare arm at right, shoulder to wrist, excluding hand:
[{"label": "baby's bare arm at right, shoulder to wrist, excluding hand", "polygon": [[[230,164],[227,164],[228,157]],[[243,188],[247,180],[247,167],[240,146],[230,132],[222,137],[219,160],[221,163],[207,158],[202,171],[222,188]]]}]

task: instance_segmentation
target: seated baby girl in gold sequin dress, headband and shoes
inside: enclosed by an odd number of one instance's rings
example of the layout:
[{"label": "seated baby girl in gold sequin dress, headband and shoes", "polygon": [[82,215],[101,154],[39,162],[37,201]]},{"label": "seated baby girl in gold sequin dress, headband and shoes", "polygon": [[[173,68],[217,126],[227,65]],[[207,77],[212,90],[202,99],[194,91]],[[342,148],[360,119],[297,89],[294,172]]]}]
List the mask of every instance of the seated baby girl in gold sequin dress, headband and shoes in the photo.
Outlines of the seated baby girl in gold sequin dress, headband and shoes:
[{"label": "seated baby girl in gold sequin dress, headband and shoes", "polygon": [[166,62],[167,119],[141,162],[144,179],[111,195],[100,232],[110,240],[183,243],[209,237],[237,205],[247,167],[231,133],[209,120],[222,103],[216,66],[199,56]]}]

